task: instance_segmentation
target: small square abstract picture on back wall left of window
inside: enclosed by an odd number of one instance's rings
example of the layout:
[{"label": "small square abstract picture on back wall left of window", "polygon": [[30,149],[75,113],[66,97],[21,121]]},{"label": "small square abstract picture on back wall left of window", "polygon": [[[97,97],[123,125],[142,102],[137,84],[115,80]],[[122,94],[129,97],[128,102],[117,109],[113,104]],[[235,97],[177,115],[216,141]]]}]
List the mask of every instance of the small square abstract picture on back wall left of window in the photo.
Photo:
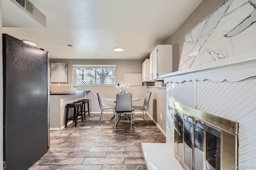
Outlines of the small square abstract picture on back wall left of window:
[{"label": "small square abstract picture on back wall left of window", "polygon": [[51,63],[50,71],[51,83],[68,83],[68,63]]}]

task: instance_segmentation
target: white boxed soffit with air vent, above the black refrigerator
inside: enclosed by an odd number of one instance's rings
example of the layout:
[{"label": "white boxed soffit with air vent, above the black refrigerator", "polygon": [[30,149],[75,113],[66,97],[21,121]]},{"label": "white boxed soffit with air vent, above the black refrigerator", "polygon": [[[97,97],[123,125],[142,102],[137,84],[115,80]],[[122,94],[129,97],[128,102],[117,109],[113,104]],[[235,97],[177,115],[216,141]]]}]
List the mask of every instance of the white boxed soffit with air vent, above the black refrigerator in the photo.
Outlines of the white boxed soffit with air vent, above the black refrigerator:
[{"label": "white boxed soffit with air vent, above the black refrigerator", "polygon": [[2,0],[2,27],[46,27],[46,16],[29,0]]}]

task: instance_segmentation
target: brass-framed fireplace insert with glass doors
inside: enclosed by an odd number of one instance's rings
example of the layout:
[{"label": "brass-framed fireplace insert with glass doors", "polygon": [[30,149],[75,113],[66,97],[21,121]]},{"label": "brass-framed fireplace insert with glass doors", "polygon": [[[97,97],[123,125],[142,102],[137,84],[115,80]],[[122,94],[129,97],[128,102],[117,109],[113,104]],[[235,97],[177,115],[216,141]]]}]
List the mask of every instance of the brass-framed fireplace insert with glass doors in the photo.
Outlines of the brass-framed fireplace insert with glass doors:
[{"label": "brass-framed fireplace insert with glass doors", "polygon": [[238,123],[175,103],[174,156],[185,170],[238,165]]}]

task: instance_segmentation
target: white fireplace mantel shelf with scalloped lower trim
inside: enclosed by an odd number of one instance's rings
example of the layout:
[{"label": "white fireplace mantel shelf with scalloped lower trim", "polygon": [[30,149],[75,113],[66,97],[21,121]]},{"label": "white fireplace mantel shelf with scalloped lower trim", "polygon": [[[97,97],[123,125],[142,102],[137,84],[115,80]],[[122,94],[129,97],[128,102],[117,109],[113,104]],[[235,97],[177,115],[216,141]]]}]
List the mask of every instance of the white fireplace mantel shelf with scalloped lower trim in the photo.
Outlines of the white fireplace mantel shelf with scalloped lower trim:
[{"label": "white fireplace mantel shelf with scalloped lower trim", "polygon": [[181,83],[190,80],[212,80],[222,82],[240,81],[256,75],[256,53],[251,51],[236,57],[222,59],[212,63],[206,63],[192,68],[161,75],[164,83]]}]

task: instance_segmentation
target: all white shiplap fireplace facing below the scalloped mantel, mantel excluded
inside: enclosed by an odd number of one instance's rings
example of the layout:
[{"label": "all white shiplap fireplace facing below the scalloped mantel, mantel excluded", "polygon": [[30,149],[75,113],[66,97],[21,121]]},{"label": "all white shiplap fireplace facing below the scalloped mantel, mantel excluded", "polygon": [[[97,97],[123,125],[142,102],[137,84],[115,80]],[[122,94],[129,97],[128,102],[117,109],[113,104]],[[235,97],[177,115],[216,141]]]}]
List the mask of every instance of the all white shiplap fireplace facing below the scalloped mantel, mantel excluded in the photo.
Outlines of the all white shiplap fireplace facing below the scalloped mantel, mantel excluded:
[{"label": "all white shiplap fireplace facing below the scalloped mantel, mantel excluded", "polygon": [[239,165],[256,164],[255,77],[236,82],[169,82],[166,85],[166,95],[166,132],[170,131],[170,136],[173,137],[174,132],[174,102],[190,107],[195,107],[193,104],[196,103],[197,109],[238,122]]}]

